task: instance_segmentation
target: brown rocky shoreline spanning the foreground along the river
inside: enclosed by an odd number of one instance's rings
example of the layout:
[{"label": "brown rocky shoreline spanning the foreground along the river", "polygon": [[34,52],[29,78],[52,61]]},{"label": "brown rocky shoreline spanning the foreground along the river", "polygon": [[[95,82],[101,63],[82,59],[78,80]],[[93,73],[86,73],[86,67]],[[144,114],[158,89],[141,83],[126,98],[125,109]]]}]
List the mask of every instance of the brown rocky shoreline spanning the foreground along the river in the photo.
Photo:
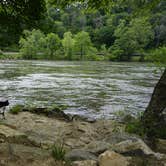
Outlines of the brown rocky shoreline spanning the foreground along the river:
[{"label": "brown rocky shoreline spanning the foreground along the river", "polygon": [[[51,147],[63,142],[65,161]],[[70,161],[67,163],[66,161]],[[0,120],[0,166],[166,166],[166,140],[152,150],[113,120],[50,118],[24,111]]]}]

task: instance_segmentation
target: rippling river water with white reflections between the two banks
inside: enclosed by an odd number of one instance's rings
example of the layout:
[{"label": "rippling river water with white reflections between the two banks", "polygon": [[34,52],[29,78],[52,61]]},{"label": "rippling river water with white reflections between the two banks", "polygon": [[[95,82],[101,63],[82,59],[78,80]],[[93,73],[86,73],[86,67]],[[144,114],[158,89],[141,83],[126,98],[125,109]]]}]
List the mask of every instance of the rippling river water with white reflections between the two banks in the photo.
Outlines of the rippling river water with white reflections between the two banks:
[{"label": "rippling river water with white reflections between the two banks", "polygon": [[0,98],[11,105],[67,105],[65,112],[112,117],[144,111],[160,74],[143,63],[0,61]]}]

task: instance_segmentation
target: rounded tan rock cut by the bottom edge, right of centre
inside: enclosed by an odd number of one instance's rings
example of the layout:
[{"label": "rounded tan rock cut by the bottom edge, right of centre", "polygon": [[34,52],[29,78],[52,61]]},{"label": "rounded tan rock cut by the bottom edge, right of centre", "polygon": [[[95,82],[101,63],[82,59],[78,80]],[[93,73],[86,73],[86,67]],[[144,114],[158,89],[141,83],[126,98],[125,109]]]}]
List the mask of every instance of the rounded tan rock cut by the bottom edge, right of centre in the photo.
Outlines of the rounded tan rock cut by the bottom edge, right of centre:
[{"label": "rounded tan rock cut by the bottom edge, right of centre", "polygon": [[105,151],[99,156],[100,166],[128,166],[128,158],[115,153],[114,151]]}]

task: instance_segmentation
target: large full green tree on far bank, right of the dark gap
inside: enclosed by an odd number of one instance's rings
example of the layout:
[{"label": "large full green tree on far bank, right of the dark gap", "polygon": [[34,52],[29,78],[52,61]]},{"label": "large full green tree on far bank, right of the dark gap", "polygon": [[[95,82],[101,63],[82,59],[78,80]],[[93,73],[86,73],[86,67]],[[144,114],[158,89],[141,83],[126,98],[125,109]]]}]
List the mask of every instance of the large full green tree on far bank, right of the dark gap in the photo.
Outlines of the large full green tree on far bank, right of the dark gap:
[{"label": "large full green tree on far bank, right of the dark gap", "polygon": [[125,57],[126,60],[130,60],[133,53],[145,49],[154,37],[152,27],[146,18],[134,18],[129,25],[126,25],[125,20],[121,20],[114,35],[116,40],[112,49],[121,50],[120,60]]}]

